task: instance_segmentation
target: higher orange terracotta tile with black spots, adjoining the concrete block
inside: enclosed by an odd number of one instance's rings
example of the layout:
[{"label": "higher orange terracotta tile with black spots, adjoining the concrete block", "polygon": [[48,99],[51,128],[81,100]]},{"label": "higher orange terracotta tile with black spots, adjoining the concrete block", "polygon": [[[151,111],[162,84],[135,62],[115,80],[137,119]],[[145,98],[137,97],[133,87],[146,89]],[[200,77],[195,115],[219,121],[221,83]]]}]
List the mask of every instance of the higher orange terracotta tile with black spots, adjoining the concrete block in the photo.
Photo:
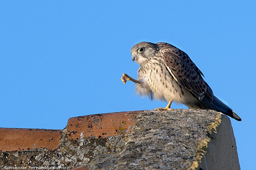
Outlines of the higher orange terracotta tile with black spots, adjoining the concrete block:
[{"label": "higher orange terracotta tile with black spots, adjoining the concrete block", "polygon": [[106,138],[115,134],[123,134],[130,131],[139,113],[140,111],[131,111],[71,117],[68,120],[67,134],[69,139],[75,140],[84,137]]}]

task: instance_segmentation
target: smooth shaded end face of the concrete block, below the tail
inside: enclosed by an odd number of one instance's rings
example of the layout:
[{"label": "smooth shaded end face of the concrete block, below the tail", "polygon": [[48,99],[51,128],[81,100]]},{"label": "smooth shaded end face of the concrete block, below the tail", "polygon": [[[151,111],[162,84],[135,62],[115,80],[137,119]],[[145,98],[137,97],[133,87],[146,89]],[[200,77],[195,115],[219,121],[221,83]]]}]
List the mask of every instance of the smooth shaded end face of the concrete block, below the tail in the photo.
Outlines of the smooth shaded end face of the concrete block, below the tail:
[{"label": "smooth shaded end face of the concrete block, below the tail", "polygon": [[[226,115],[220,116],[219,123],[216,122],[207,128],[210,131],[210,139],[202,141],[198,149],[205,151],[201,161],[198,161],[199,167],[203,170],[240,169],[237,146],[230,119]],[[197,162],[194,163],[194,165],[196,164]]]}]

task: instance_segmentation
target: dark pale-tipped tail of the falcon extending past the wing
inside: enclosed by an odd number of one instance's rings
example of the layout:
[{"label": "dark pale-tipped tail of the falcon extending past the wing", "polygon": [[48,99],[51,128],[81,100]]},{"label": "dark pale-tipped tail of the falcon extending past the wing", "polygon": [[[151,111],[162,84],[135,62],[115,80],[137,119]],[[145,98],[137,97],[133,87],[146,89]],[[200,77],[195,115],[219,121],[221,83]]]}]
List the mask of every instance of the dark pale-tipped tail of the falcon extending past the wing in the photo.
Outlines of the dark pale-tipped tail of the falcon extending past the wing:
[{"label": "dark pale-tipped tail of the falcon extending past the wing", "polygon": [[213,105],[216,108],[218,112],[222,112],[233,119],[236,119],[237,121],[242,121],[242,119],[225,103],[220,101],[216,96],[213,95]]}]

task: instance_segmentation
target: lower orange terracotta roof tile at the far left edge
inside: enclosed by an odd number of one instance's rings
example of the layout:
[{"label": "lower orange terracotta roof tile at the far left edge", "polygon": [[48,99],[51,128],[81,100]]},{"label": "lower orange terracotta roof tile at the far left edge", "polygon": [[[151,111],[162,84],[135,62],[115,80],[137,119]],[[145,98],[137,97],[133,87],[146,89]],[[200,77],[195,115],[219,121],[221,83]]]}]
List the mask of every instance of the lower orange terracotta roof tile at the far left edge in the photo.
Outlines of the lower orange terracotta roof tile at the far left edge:
[{"label": "lower orange terracotta roof tile at the far left edge", "polygon": [[24,151],[45,147],[58,148],[61,130],[0,128],[0,150]]}]

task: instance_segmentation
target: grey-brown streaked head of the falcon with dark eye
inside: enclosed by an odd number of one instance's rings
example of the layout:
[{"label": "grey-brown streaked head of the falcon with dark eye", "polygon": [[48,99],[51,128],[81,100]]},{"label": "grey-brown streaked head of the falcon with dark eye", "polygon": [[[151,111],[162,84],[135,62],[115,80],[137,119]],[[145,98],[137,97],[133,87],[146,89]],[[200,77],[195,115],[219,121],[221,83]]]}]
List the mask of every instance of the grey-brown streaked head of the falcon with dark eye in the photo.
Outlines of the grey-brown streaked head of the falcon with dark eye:
[{"label": "grey-brown streaked head of the falcon with dark eye", "polygon": [[140,42],[131,49],[132,60],[139,65],[145,64],[152,59],[159,51],[159,45],[151,42]]}]

